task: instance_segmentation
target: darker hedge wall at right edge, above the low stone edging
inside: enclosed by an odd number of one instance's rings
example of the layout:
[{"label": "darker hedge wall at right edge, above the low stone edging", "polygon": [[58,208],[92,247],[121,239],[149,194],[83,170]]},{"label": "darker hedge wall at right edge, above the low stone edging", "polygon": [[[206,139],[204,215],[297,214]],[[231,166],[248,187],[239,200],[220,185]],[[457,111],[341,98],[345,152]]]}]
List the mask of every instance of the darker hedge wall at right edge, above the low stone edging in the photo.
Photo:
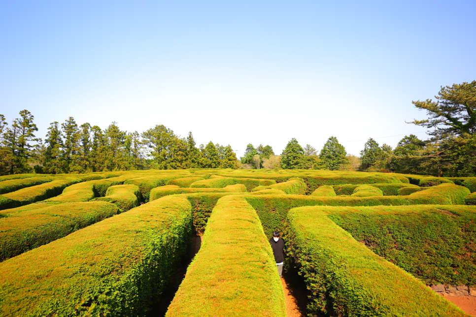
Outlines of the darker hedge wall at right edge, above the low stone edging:
[{"label": "darker hedge wall at right edge, above the low stone edging", "polygon": [[[324,210],[324,209],[323,209]],[[476,285],[476,207],[328,208],[329,218],[427,285]]]}]

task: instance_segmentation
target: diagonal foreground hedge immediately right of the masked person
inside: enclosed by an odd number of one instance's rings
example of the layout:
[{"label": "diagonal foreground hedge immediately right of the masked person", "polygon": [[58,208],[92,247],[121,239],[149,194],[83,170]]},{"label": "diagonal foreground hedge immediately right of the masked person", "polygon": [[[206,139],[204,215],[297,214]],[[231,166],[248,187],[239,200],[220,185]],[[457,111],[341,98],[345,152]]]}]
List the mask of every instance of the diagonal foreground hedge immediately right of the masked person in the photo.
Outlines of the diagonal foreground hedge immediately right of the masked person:
[{"label": "diagonal foreground hedge immediately right of the masked person", "polygon": [[[307,316],[467,316],[326,217],[292,209],[283,239],[308,289]],[[342,209],[342,208],[336,208]]]}]

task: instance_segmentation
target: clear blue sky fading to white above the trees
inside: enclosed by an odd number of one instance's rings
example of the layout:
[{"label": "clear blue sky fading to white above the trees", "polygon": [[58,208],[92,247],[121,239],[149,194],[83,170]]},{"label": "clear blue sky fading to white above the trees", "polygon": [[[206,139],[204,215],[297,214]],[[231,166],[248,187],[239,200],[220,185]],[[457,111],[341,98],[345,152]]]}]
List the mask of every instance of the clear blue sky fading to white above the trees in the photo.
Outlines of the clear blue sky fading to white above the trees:
[{"label": "clear blue sky fading to white above the trees", "polygon": [[411,101],[476,80],[475,31],[475,0],[0,0],[0,114],[359,155],[427,138]]}]

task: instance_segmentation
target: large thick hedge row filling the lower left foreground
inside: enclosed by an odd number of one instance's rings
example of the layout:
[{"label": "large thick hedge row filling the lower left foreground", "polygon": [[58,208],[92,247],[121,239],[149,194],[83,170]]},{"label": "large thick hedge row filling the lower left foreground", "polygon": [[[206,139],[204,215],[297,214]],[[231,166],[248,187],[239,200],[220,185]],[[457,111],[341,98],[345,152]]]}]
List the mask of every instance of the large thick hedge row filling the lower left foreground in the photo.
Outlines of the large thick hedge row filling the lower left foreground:
[{"label": "large thick hedge row filling the lower left foreground", "polygon": [[164,197],[3,261],[0,315],[146,316],[186,254],[190,208]]}]

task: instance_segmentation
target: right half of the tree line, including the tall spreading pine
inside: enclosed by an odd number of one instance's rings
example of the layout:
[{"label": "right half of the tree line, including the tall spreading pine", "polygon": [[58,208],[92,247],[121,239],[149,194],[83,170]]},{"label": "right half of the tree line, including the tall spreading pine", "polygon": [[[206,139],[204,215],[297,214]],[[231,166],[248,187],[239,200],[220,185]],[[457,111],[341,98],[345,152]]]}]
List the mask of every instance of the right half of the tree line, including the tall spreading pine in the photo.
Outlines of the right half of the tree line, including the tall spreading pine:
[{"label": "right half of the tree line, including the tall spreading pine", "polygon": [[[443,177],[476,176],[476,81],[441,87],[436,101],[412,101],[426,110],[428,119],[408,122],[430,130],[427,140],[405,136],[395,149],[373,139],[365,143],[360,157],[348,155],[331,136],[317,154],[315,148],[292,139],[280,156],[271,147],[248,144],[241,162],[249,168],[311,168],[328,170],[396,172]],[[268,148],[269,147],[269,148]]]}]

